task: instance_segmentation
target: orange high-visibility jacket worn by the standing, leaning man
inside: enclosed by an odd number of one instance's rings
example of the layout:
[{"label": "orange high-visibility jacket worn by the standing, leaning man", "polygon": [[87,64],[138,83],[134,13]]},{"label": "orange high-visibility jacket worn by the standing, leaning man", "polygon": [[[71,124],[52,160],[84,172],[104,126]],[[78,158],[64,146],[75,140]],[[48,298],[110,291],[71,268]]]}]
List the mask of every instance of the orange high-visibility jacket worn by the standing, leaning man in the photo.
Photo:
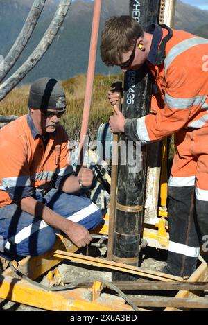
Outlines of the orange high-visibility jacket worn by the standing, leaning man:
[{"label": "orange high-visibility jacket worn by the standing, leaning man", "polygon": [[[162,28],[162,33],[164,39],[167,30]],[[208,39],[173,30],[166,43],[164,64],[147,64],[161,93],[152,100],[151,112],[157,114],[127,119],[125,133],[149,143],[182,128],[207,128]]]}]

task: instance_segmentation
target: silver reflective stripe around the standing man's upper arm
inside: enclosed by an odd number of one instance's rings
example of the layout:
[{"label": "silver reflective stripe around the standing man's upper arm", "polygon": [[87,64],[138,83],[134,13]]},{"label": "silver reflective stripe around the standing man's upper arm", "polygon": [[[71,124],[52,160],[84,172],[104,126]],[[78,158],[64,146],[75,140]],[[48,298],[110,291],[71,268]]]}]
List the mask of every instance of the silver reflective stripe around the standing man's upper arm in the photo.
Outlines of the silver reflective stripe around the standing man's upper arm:
[{"label": "silver reflective stripe around the standing man's upper arm", "polygon": [[175,98],[168,94],[165,95],[165,103],[175,109],[191,108],[193,105],[202,105],[205,103],[207,96],[196,96],[192,98]]}]

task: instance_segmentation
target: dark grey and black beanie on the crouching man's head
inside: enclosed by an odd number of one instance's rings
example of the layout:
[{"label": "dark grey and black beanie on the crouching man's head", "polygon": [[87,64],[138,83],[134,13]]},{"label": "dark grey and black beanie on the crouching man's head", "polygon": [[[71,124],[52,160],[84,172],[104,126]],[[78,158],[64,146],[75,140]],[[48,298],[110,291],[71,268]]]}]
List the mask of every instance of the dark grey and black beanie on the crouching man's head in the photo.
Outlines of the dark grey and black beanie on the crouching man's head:
[{"label": "dark grey and black beanie on the crouching man's head", "polygon": [[28,98],[28,107],[37,109],[65,109],[67,106],[64,89],[58,80],[40,78],[33,82]]}]

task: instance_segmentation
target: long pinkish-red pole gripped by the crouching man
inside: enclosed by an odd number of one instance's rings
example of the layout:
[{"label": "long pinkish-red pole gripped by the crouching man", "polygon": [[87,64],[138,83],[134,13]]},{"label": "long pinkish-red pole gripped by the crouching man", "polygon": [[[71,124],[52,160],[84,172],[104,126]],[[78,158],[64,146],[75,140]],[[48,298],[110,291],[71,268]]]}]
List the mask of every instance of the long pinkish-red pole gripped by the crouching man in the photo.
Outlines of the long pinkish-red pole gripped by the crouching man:
[{"label": "long pinkish-red pole gripped by the crouching man", "polygon": [[86,89],[85,89],[85,102],[83,108],[83,121],[82,127],[80,132],[80,144],[79,144],[79,159],[80,164],[82,164],[82,160],[80,160],[80,155],[83,151],[85,151],[85,138],[87,135],[87,129],[89,125],[89,112],[90,112],[90,105],[92,99],[92,88],[94,82],[94,70],[95,70],[95,63],[96,63],[96,50],[98,44],[98,31],[99,31],[99,24],[100,24],[100,17],[101,17],[101,4],[102,0],[94,0],[94,14],[92,19],[92,33],[90,39],[90,47],[89,47],[89,62],[88,62],[88,70],[87,70],[87,82],[86,82]]}]

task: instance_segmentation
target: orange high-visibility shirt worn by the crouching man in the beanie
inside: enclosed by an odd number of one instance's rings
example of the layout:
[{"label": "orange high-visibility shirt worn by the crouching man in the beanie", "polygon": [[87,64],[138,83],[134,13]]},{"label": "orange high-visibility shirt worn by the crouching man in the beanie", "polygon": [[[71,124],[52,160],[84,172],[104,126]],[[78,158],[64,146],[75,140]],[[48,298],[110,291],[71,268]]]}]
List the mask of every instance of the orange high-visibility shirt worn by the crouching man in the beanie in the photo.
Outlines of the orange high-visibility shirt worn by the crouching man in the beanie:
[{"label": "orange high-visibility shirt worn by the crouching man in the beanie", "polygon": [[44,188],[54,175],[58,187],[62,177],[73,173],[61,125],[49,134],[44,150],[42,138],[34,139],[28,116],[21,116],[0,130],[0,152],[0,207],[33,195],[34,188]]}]

